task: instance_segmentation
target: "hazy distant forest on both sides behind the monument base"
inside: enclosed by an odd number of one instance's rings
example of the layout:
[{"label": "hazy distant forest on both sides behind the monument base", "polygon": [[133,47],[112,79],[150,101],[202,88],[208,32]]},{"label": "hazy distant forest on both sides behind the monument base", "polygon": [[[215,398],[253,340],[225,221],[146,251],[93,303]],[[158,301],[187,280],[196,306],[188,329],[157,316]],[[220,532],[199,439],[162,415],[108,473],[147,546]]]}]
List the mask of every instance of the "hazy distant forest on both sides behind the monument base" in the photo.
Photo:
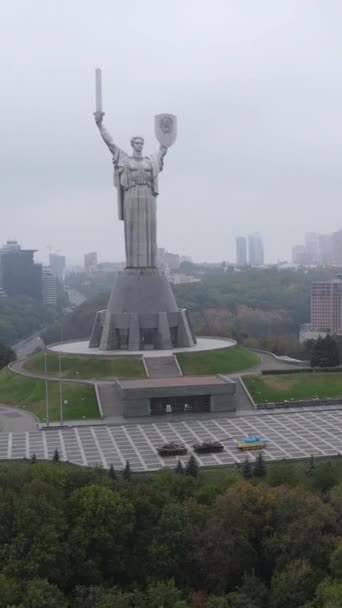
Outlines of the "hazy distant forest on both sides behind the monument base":
[{"label": "hazy distant forest on both sides behind the monument base", "polygon": [[[187,308],[198,335],[236,338],[250,347],[277,354],[306,356],[298,343],[301,323],[310,321],[312,281],[327,280],[327,269],[246,268],[222,265],[207,268],[185,263],[182,272],[198,283],[175,285],[180,307]],[[96,311],[107,305],[113,274],[87,277],[69,275],[71,287],[89,298],[65,319],[66,338],[87,338]],[[58,340],[60,328],[50,328],[47,340]]]}]

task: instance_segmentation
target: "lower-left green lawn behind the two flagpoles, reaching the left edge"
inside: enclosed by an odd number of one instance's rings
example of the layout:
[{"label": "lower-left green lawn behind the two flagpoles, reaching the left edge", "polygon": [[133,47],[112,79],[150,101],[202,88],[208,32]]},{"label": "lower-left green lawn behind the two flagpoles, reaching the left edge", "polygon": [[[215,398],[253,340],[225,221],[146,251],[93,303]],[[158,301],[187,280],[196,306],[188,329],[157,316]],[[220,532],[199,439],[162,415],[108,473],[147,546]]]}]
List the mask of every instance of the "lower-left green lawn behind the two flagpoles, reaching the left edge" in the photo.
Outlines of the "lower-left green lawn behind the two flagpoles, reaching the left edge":
[{"label": "lower-left green lawn behind the two flagpoles, reaching the left edge", "polygon": [[[88,384],[63,382],[65,420],[98,418],[99,411],[94,387]],[[59,383],[48,383],[50,420],[59,420]],[[0,372],[0,403],[15,405],[33,412],[39,420],[45,419],[45,382],[19,376],[4,368]]]}]

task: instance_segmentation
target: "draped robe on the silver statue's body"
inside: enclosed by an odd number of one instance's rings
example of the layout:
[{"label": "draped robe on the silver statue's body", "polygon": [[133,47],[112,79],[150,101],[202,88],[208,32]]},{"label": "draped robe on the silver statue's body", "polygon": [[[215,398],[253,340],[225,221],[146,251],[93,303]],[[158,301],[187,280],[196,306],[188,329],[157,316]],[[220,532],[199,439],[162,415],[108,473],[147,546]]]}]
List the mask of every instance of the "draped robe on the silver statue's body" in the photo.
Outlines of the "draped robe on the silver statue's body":
[{"label": "draped robe on the silver statue's body", "polygon": [[116,148],[113,163],[119,219],[125,223],[126,265],[128,268],[155,267],[156,196],[163,155],[158,152],[153,156],[136,158]]}]

